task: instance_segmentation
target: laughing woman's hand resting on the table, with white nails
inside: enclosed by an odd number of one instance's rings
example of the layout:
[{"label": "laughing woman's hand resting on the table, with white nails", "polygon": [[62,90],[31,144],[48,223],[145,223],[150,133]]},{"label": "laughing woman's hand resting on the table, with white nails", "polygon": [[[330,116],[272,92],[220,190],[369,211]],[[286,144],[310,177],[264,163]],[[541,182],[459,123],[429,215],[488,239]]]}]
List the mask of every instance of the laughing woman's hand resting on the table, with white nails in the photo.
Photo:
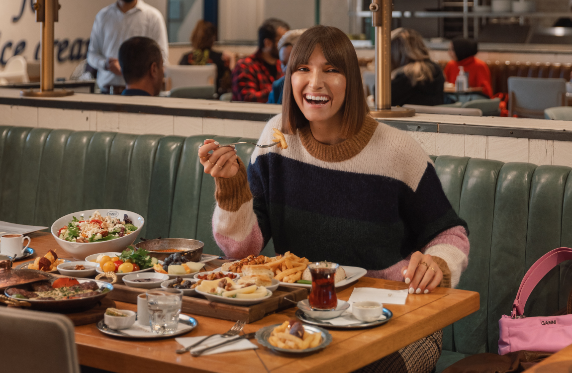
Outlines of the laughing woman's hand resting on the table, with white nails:
[{"label": "laughing woman's hand resting on the table, with white nails", "polygon": [[443,272],[429,254],[416,251],[411,254],[408,267],[401,269],[405,283],[409,285],[409,293],[427,294],[438,287],[443,279]]}]

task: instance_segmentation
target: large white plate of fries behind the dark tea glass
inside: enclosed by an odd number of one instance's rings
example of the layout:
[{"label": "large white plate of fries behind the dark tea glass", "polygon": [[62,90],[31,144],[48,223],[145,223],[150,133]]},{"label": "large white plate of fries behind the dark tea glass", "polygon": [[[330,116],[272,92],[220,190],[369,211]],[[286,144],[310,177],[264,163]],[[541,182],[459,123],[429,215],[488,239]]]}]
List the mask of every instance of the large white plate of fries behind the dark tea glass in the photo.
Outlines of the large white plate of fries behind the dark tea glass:
[{"label": "large white plate of fries behind the dark tea glass", "polygon": [[[256,264],[252,264],[256,263]],[[259,255],[255,257],[254,255],[248,256],[244,259],[237,260],[233,263],[229,263],[228,269],[224,271],[240,273],[243,265],[248,265],[249,267],[270,267],[274,272],[274,278],[279,280],[281,284],[288,286],[297,286],[304,288],[311,288],[311,283],[299,283],[305,269],[308,264],[312,263],[305,257],[299,257],[291,252],[286,252],[284,255],[279,255],[275,257],[268,257]],[[349,267],[348,265],[340,265],[345,272],[345,279],[336,280],[336,288],[340,286],[352,283],[358,280],[360,277],[366,275],[367,271],[365,268],[361,267]],[[215,269],[215,271],[223,271],[223,267]],[[307,281],[304,281],[307,282]]]}]

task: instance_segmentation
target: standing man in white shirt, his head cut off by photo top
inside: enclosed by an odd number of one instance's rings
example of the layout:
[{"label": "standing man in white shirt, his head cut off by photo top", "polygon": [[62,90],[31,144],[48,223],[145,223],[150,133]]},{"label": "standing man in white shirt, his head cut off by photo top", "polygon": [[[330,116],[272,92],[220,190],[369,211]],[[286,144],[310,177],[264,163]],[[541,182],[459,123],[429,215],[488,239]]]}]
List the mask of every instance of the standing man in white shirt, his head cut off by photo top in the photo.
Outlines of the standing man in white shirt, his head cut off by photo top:
[{"label": "standing man in white shirt, his head cut off by photo top", "polygon": [[134,36],[153,39],[161,48],[163,63],[169,58],[165,19],[160,11],[142,0],[117,0],[96,15],[89,39],[88,64],[97,69],[102,93],[121,94],[125,81],[117,61],[121,43]]}]

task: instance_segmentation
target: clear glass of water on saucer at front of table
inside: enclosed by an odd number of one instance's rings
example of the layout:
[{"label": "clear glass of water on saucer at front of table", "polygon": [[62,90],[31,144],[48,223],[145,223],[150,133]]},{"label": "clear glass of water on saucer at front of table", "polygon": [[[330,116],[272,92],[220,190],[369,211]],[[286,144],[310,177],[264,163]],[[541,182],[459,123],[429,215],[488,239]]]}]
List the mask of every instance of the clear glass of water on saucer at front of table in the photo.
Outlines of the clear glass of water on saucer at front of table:
[{"label": "clear glass of water on saucer at front of table", "polygon": [[146,292],[149,326],[154,334],[173,334],[177,331],[181,313],[182,291],[179,289],[153,289]]}]

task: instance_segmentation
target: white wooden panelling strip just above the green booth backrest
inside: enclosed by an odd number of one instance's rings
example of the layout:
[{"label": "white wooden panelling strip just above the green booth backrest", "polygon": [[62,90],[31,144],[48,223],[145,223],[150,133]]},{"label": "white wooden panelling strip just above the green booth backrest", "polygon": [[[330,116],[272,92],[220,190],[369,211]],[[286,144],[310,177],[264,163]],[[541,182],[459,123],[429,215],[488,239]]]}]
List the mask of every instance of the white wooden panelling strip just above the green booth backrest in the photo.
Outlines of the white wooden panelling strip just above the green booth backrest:
[{"label": "white wooden panelling strip just above the green booth backrest", "polygon": [[[265,122],[0,105],[0,125],[259,138]],[[427,154],[572,166],[572,142],[407,131]]]}]

